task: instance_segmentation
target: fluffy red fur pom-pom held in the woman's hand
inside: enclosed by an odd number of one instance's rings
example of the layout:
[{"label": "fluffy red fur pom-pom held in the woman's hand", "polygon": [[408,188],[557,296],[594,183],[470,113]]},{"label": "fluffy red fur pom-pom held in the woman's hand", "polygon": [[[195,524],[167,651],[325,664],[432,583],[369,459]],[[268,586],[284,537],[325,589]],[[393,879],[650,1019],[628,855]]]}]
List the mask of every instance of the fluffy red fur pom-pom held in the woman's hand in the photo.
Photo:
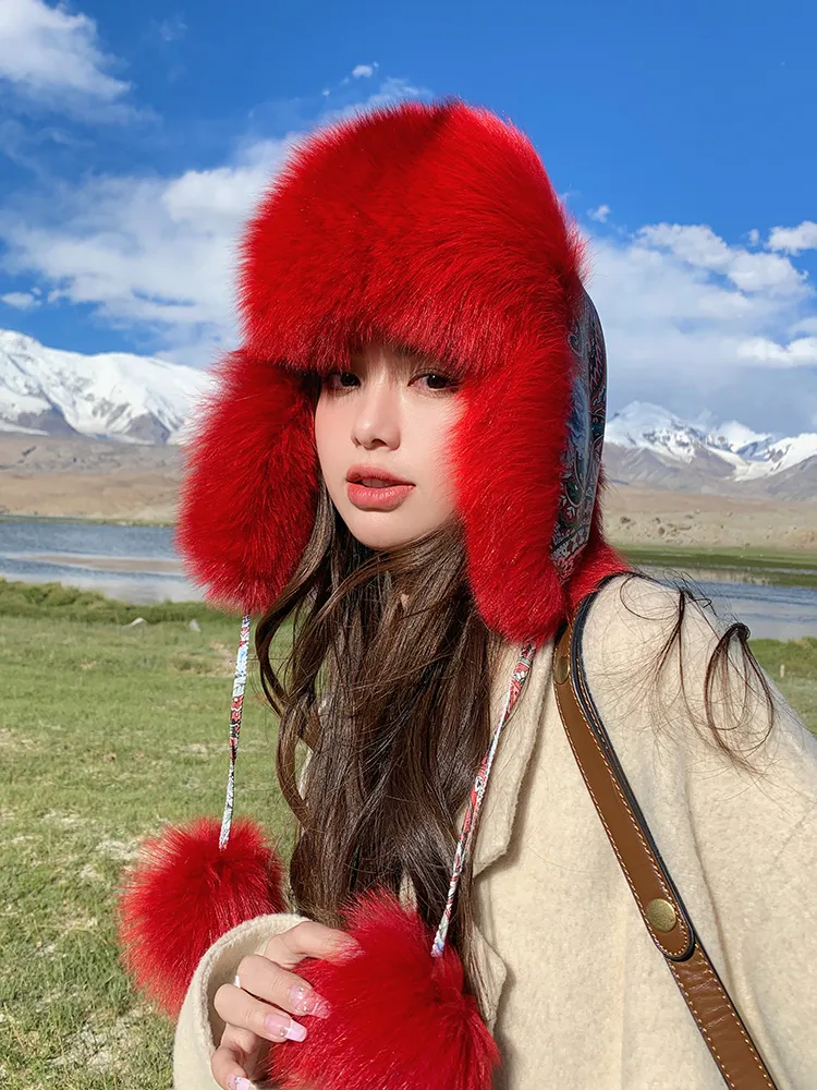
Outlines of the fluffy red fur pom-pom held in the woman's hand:
[{"label": "fluffy red fur pom-pom held in the woman's hand", "polygon": [[271,1049],[276,1086],[488,1090],[499,1051],[476,1001],[463,993],[456,952],[432,958],[434,936],[391,894],[367,894],[349,922],[359,953],[298,966],[331,1013],[304,1019],[304,1042]]}]

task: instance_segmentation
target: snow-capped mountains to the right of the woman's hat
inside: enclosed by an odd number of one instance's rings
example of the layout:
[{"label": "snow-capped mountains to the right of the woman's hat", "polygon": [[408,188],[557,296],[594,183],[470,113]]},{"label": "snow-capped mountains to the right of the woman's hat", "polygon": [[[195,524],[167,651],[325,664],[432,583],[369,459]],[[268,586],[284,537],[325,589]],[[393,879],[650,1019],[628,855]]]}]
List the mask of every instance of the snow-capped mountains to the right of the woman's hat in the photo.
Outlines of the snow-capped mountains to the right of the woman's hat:
[{"label": "snow-capped mountains to the right of the woman's hat", "polygon": [[609,479],[649,487],[745,487],[797,499],[817,492],[817,434],[786,438],[737,421],[712,427],[639,401],[608,420],[605,462]]}]

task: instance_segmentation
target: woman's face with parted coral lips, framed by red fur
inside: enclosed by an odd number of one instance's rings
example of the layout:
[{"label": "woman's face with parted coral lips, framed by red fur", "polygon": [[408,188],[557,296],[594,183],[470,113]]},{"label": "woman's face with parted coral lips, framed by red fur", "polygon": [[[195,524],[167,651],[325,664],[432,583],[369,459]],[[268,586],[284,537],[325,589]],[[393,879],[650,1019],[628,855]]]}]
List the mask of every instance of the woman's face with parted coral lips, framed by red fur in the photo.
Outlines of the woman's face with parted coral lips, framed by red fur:
[{"label": "woman's face with parted coral lips, framed by red fur", "polygon": [[[315,444],[332,502],[350,532],[387,549],[454,514],[451,431],[462,411],[446,368],[368,344],[321,385]],[[388,485],[377,474],[403,482]]]}]

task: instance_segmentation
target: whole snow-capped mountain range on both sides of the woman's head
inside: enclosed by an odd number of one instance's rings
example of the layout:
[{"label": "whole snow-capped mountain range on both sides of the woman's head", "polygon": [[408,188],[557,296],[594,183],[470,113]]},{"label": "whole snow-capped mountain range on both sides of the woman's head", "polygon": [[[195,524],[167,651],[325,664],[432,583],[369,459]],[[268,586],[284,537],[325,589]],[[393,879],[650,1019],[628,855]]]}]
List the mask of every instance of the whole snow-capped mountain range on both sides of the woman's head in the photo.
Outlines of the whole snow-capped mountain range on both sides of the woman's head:
[{"label": "whole snow-capped mountain range on both sides of the woman's head", "polygon": [[[122,352],[84,355],[0,330],[0,432],[181,446],[210,372]],[[817,495],[817,434],[683,420],[633,401],[605,433],[608,480],[681,492],[781,499]]]}]

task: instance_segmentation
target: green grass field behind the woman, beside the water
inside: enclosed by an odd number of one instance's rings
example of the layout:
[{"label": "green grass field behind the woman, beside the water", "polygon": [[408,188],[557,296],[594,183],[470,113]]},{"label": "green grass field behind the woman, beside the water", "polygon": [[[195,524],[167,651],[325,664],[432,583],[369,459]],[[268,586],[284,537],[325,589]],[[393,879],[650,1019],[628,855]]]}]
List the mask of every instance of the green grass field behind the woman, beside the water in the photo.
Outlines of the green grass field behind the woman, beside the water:
[{"label": "green grass field behind the woman, beside the water", "polygon": [[[134,617],[149,626],[126,629]],[[187,621],[196,617],[200,632]],[[171,1026],[118,965],[113,895],[141,836],[220,814],[240,619],[0,581],[0,1085],[166,1090]],[[817,640],[758,641],[817,731]],[[237,810],[281,833],[275,719],[251,669]]]}]

